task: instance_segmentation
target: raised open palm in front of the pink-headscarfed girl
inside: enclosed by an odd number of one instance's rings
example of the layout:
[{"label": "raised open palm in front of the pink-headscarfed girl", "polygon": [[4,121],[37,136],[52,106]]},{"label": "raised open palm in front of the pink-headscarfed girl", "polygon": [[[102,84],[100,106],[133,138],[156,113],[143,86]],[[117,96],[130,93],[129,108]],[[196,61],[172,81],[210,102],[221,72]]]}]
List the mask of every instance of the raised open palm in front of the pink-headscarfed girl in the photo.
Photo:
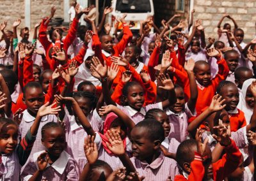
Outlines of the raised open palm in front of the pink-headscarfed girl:
[{"label": "raised open palm in front of the pink-headscarfed girl", "polygon": [[106,142],[106,145],[113,154],[115,154],[116,156],[122,156],[125,154],[124,143],[121,139],[120,134],[108,130],[106,137],[109,141],[109,143]]}]

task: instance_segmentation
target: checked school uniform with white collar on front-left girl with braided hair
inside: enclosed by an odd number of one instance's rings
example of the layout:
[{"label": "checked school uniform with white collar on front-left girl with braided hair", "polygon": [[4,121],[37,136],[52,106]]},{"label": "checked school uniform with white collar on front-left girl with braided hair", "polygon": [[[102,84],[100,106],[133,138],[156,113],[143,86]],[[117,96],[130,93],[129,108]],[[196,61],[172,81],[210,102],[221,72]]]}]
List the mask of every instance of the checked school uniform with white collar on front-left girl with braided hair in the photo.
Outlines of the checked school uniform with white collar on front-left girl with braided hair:
[{"label": "checked school uniform with white collar on front-left girl with braided hair", "polygon": [[[29,160],[29,163],[22,171],[20,177],[22,180],[29,180],[38,170],[37,158],[45,151],[36,152]],[[76,161],[65,151],[61,152],[60,157],[51,165],[48,163],[42,176],[38,180],[78,180],[76,171]]]}]

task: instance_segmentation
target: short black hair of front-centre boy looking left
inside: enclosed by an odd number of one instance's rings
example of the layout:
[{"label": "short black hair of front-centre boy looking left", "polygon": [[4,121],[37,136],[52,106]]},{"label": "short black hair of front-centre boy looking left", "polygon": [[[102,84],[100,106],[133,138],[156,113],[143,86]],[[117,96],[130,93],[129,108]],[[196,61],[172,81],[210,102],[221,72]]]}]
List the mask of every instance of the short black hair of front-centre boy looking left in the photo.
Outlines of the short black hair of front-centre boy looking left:
[{"label": "short black hair of front-centre boy looking left", "polygon": [[151,141],[164,141],[164,128],[156,119],[144,119],[134,126],[138,129],[144,128],[147,130],[147,136]]}]

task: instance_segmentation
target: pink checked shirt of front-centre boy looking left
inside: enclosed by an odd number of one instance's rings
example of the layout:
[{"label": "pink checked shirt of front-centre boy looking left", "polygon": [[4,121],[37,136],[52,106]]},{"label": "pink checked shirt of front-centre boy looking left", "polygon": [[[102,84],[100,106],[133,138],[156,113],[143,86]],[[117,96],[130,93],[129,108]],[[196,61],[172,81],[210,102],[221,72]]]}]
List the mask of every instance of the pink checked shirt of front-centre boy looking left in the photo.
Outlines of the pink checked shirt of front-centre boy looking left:
[{"label": "pink checked shirt of front-centre boy looking left", "polygon": [[161,152],[159,157],[150,164],[146,161],[140,161],[136,157],[132,157],[131,162],[139,175],[145,177],[145,181],[167,180],[168,177],[171,177],[171,180],[174,180],[175,175],[179,174],[176,161],[164,157],[163,152]]}]

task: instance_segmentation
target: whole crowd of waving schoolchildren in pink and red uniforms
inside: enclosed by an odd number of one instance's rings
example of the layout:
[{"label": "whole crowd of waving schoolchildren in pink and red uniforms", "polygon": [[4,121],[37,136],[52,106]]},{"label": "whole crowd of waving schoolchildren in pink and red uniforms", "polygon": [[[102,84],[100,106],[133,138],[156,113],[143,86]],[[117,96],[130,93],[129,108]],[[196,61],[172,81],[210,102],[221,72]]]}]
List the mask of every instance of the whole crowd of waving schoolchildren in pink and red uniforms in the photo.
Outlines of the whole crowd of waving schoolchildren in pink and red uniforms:
[{"label": "whole crowd of waving schoolchildren in pink and red uniforms", "polygon": [[111,34],[112,8],[72,7],[32,41],[0,24],[0,180],[254,180],[256,39],[229,15],[208,44],[180,15]]}]

